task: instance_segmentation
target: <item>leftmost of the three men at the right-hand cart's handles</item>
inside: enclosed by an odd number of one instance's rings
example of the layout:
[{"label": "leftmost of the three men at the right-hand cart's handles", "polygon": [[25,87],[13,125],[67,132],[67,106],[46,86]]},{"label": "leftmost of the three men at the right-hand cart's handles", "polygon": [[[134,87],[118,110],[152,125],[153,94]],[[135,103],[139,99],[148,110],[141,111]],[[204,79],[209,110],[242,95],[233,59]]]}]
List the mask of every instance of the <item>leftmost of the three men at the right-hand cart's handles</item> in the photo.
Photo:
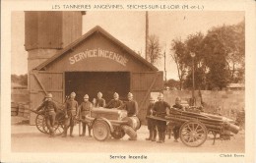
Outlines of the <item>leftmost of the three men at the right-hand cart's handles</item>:
[{"label": "leftmost of the three men at the right-hand cart's handles", "polygon": [[[150,97],[150,105],[148,106],[147,116],[152,115],[154,104],[155,104],[155,100],[153,99],[153,97]],[[146,119],[148,121],[148,130],[150,131],[150,136],[148,138],[146,138],[146,140],[156,141],[156,136],[157,136],[156,122],[155,122],[155,120],[147,118],[147,117],[146,117]]]}]

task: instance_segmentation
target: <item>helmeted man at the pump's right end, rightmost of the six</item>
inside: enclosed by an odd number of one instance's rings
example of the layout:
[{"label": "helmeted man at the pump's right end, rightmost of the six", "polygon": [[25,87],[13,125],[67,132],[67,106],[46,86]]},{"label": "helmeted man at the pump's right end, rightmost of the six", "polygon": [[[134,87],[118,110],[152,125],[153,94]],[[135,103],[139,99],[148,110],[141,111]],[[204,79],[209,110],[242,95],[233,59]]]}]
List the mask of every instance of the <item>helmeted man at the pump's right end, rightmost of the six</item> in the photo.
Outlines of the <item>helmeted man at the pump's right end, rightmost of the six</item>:
[{"label": "helmeted man at the pump's right end, rightmost of the six", "polygon": [[[133,99],[133,94],[131,92],[127,95],[128,101],[117,107],[117,109],[126,110],[127,117],[136,117],[138,114],[138,103]],[[129,128],[125,130],[125,133],[130,136],[129,140],[136,140],[137,134]]]}]

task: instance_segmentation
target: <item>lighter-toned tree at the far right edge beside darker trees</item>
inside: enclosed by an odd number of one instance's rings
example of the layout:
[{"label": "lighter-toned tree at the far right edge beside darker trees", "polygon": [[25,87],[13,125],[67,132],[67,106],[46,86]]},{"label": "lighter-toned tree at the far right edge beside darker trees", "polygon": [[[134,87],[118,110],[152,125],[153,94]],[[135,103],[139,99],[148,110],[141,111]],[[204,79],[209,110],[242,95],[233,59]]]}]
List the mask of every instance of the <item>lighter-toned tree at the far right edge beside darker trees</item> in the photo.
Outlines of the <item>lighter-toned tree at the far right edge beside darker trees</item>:
[{"label": "lighter-toned tree at the far right edge beside darker trees", "polygon": [[245,21],[233,26],[213,27],[209,34],[216,34],[224,45],[225,64],[230,82],[243,82],[245,58]]}]

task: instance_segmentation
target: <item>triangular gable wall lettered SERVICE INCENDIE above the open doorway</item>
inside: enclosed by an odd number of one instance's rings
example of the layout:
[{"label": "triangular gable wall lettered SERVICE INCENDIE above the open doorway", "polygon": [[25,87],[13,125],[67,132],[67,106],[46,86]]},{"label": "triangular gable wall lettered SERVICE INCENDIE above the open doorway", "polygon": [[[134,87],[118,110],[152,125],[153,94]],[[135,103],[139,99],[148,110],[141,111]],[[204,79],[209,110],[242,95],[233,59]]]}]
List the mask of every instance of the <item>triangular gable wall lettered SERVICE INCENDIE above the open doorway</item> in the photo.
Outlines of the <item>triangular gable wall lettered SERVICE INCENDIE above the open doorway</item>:
[{"label": "triangular gable wall lettered SERVICE INCENDIE above the open doorway", "polygon": [[[79,53],[87,52],[88,50],[107,50],[118,55],[124,56],[127,62],[123,65],[113,59],[106,57],[87,57],[81,58],[74,62],[75,57]],[[71,61],[72,60],[72,61]],[[91,37],[82,41],[77,47],[73,48],[59,57],[57,60],[47,66],[47,71],[54,72],[72,72],[72,71],[125,71],[125,72],[147,72],[152,71],[149,67],[142,64],[138,59],[122,50],[119,46],[114,44],[100,33],[95,33]]]}]

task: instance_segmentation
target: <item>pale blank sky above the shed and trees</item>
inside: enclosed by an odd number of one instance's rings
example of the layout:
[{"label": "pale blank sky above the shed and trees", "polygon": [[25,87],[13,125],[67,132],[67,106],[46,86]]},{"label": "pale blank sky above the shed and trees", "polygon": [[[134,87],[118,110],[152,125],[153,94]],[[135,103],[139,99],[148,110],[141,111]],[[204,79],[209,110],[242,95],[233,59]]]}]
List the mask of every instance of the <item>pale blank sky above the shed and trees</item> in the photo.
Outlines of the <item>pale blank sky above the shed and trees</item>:
[{"label": "pale blank sky above the shed and trees", "polygon": [[[149,34],[159,36],[162,53],[166,53],[166,77],[178,79],[175,63],[170,57],[170,43],[175,38],[184,40],[189,34],[206,34],[212,27],[235,25],[244,19],[244,12],[149,12]],[[145,12],[87,12],[83,16],[83,34],[100,26],[129,48],[145,57]],[[28,54],[25,51],[24,12],[12,13],[12,74],[28,72]],[[163,58],[156,65],[163,71]]]}]

